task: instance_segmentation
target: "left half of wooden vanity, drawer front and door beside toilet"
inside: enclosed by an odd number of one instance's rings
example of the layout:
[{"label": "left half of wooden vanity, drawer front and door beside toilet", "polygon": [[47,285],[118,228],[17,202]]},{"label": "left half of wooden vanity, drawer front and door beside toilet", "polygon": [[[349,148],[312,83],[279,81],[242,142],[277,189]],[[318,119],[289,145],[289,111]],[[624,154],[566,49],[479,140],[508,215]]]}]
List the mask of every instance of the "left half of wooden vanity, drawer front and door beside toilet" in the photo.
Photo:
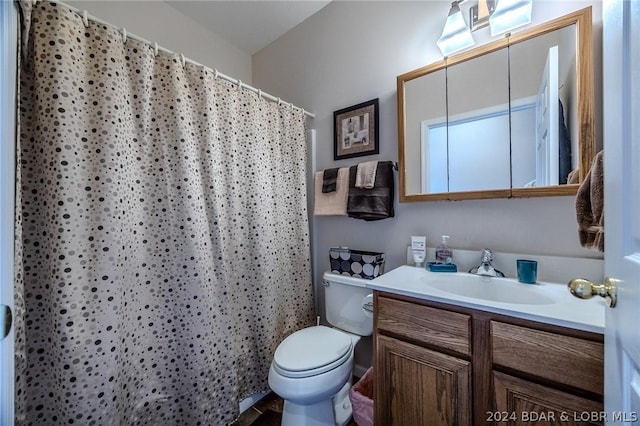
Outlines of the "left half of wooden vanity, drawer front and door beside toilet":
[{"label": "left half of wooden vanity, drawer front and door beside toilet", "polygon": [[471,317],[376,300],[376,424],[471,424]]}]

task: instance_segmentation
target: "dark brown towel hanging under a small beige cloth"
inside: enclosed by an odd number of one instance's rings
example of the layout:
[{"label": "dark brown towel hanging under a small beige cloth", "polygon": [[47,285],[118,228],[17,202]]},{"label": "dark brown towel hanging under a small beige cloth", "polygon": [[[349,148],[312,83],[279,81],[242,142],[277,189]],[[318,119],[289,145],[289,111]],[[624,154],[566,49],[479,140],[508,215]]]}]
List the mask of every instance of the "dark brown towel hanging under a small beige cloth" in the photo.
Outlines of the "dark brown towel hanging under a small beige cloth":
[{"label": "dark brown towel hanging under a small beige cloth", "polygon": [[347,215],[362,220],[381,220],[394,217],[393,210],[393,163],[379,161],[375,185],[372,189],[356,188],[358,167],[349,170],[349,196]]}]

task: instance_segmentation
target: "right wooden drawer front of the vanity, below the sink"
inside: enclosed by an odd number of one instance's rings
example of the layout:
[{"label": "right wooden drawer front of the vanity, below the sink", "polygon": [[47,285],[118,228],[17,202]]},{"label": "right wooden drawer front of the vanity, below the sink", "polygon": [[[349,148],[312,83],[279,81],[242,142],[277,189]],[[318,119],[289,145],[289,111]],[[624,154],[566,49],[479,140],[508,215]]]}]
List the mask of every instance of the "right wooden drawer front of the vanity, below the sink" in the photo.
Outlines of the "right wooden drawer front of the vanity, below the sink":
[{"label": "right wooden drawer front of the vanity, below the sink", "polygon": [[603,394],[600,342],[491,321],[494,365]]}]

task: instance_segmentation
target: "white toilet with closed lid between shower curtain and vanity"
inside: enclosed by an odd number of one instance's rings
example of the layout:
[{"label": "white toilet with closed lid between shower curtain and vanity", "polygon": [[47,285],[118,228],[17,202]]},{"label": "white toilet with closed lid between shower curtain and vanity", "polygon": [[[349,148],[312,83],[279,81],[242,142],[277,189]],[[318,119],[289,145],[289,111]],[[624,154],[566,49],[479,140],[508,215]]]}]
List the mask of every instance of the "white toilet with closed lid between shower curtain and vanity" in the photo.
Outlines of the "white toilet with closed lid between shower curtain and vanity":
[{"label": "white toilet with closed lid between shower curtain and vanity", "polygon": [[269,387],[284,400],[282,426],[344,426],[351,417],[353,349],[373,331],[367,280],[323,275],[327,321],[284,339],[271,362]]}]

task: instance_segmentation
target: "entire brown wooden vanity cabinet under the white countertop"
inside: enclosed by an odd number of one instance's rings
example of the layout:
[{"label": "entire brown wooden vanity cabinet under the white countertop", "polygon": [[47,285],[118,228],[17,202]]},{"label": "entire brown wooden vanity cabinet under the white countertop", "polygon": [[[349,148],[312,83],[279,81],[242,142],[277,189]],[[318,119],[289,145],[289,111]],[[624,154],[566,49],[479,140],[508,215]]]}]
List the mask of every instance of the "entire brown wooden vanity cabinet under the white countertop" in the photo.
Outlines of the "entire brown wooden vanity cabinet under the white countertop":
[{"label": "entire brown wooden vanity cabinet under the white countertop", "polygon": [[377,425],[603,423],[602,335],[374,295]]}]

